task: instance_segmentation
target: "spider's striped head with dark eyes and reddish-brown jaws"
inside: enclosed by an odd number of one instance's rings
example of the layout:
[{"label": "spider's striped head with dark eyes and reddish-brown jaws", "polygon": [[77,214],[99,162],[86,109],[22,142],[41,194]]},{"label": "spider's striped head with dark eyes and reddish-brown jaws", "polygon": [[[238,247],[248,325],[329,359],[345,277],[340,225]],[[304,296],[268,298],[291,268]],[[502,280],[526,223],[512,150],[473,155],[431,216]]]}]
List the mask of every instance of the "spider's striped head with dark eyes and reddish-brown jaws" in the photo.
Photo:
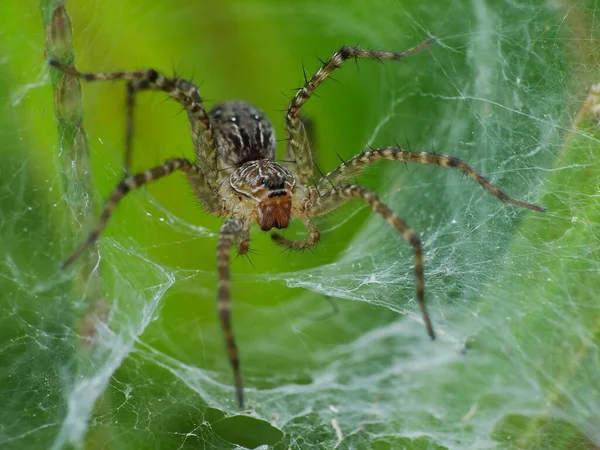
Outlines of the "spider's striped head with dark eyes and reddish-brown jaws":
[{"label": "spider's striped head with dark eyes and reddish-brown jaws", "polygon": [[249,161],[230,177],[230,185],[237,193],[256,202],[256,221],[263,231],[288,227],[295,184],[288,169],[268,159]]}]

